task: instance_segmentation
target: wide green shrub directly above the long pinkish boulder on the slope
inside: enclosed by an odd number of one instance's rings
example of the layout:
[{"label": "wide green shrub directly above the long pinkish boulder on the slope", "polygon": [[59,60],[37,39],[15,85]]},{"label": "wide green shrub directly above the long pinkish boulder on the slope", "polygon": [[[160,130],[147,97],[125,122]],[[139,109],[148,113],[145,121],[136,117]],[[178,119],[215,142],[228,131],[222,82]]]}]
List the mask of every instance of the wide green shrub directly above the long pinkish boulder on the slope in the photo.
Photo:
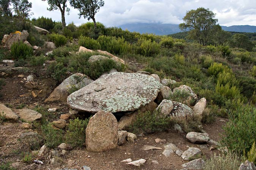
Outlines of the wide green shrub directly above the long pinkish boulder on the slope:
[{"label": "wide green shrub directly above the long pinkish boulder on the slope", "polygon": [[101,49],[112,54],[126,54],[130,51],[130,45],[124,38],[100,36],[97,41],[101,45]]}]

